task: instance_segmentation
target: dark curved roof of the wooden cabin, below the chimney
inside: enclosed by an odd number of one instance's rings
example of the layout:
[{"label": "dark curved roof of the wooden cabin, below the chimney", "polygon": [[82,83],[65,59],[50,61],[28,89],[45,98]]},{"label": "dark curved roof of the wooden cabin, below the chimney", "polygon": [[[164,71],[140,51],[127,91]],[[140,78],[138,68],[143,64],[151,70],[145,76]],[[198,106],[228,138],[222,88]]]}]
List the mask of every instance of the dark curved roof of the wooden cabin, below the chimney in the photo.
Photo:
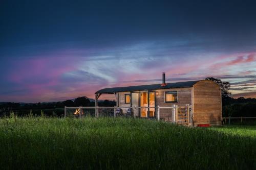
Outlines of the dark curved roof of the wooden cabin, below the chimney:
[{"label": "dark curved roof of the wooden cabin, below the chimney", "polygon": [[141,85],[141,86],[127,86],[127,87],[112,87],[112,88],[103,88],[95,92],[99,93],[115,93],[115,92],[124,92],[124,91],[139,91],[139,90],[158,90],[158,89],[168,89],[168,88],[184,88],[192,87],[198,81],[188,81],[188,82],[176,82],[176,83],[167,83],[165,86],[160,86],[160,84],[150,84],[150,85]]}]

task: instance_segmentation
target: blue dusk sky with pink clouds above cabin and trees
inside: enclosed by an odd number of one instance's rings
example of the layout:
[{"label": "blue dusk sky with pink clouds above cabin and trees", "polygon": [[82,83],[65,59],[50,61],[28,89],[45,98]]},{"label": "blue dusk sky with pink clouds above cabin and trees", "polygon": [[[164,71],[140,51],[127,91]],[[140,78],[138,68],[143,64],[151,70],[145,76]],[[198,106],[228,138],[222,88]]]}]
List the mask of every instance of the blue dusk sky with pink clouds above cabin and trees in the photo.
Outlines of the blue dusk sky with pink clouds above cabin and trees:
[{"label": "blue dusk sky with pink clouds above cabin and trees", "polygon": [[0,102],[217,77],[256,98],[255,1],[1,1]]}]

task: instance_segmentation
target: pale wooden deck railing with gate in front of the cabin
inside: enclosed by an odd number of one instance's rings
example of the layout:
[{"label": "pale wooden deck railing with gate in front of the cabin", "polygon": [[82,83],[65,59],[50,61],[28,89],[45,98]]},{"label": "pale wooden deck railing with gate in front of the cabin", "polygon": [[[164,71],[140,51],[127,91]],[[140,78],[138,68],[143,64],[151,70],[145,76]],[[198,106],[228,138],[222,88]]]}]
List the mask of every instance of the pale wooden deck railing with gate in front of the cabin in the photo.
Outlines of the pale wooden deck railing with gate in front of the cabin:
[{"label": "pale wooden deck railing with gate in front of the cabin", "polygon": [[164,119],[167,122],[190,125],[192,122],[191,105],[172,105],[156,107],[65,107],[65,117],[142,117]]}]

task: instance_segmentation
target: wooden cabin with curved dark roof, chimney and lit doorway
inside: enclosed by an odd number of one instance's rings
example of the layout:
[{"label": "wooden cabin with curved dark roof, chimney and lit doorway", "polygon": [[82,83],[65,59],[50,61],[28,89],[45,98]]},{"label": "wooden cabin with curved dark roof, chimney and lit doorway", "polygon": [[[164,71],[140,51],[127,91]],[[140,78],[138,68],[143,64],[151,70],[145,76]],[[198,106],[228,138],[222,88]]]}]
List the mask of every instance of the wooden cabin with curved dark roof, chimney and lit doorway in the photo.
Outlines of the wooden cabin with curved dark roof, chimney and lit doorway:
[{"label": "wooden cabin with curved dark roof, chimney and lit doorway", "polygon": [[[199,80],[177,83],[140,85],[129,87],[114,87],[98,90],[96,101],[100,94],[116,94],[117,107],[156,107],[156,106],[186,106],[191,105],[193,126],[221,126],[222,104],[220,86],[213,81]],[[97,105],[97,102],[96,102]],[[126,112],[127,109],[123,109]],[[156,109],[142,108],[135,111],[138,117],[156,117]],[[172,110],[160,111],[160,119],[172,121]]]}]

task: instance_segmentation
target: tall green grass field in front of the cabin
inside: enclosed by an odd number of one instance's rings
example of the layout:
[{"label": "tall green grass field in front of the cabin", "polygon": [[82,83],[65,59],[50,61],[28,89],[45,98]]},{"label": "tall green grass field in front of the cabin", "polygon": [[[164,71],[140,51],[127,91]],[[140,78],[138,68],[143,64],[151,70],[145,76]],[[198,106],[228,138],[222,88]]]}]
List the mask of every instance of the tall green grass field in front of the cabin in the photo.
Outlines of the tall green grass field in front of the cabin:
[{"label": "tall green grass field in front of the cabin", "polygon": [[1,169],[252,169],[256,127],[133,118],[0,119]]}]

